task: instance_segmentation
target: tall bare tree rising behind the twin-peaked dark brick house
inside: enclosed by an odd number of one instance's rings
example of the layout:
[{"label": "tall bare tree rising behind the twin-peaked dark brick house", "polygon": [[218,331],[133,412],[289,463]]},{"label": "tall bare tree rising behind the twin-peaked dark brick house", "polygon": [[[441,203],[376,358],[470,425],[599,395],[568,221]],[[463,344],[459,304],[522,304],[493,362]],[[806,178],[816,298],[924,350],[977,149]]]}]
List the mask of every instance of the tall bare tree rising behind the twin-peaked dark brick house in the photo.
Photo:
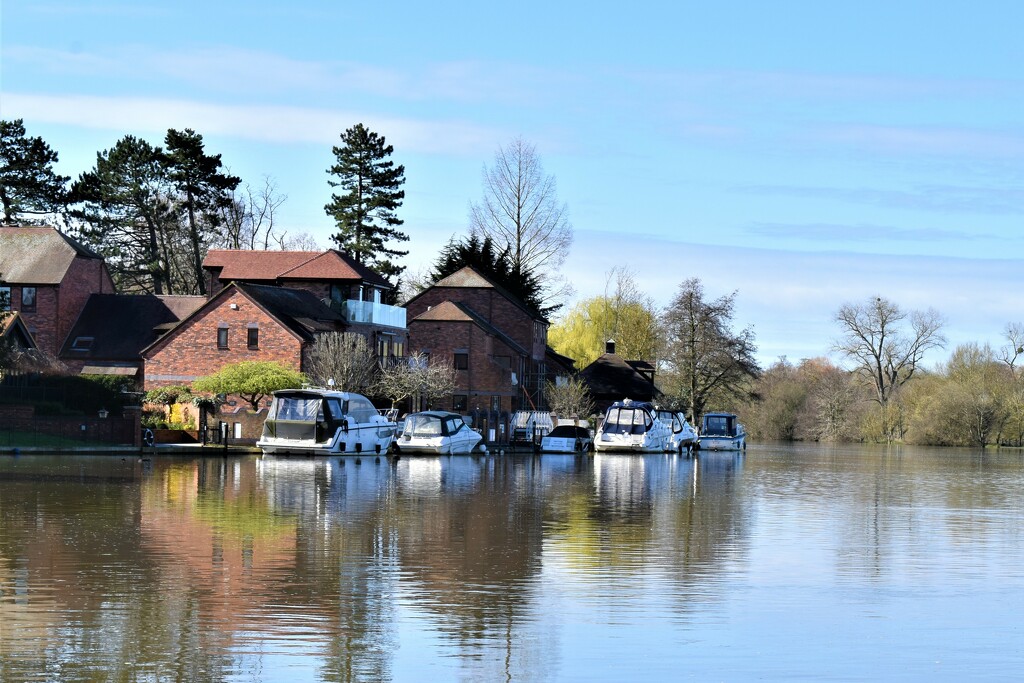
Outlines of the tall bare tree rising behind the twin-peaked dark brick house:
[{"label": "tall bare tree rising behind the twin-peaked dark brick house", "polygon": [[471,206],[470,227],[508,248],[514,272],[536,274],[546,302],[571,292],[557,272],[572,245],[568,208],[558,202],[555,176],[544,172],[537,148],[521,137],[498,147],[484,168],[483,200]]}]

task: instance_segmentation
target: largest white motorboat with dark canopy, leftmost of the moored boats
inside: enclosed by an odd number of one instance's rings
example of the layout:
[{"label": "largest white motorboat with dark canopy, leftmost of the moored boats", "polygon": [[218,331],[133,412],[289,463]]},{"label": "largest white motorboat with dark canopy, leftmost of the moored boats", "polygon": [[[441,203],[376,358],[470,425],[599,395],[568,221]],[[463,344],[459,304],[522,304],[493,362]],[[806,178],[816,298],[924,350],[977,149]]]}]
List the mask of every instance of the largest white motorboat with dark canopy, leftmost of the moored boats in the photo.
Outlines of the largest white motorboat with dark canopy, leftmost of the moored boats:
[{"label": "largest white motorboat with dark canopy, leftmost of the moored boats", "polygon": [[333,389],[273,392],[256,445],[268,455],[387,453],[398,425],[366,396]]}]

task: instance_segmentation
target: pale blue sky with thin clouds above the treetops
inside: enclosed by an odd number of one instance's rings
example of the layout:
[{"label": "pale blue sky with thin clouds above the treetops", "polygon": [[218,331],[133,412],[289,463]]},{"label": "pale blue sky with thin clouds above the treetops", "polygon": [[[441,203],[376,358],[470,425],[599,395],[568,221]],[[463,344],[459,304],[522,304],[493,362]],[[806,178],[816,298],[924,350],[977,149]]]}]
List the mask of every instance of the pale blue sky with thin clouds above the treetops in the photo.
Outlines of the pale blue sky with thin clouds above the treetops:
[{"label": "pale blue sky with thin clouds above the treetops", "polygon": [[1024,321],[1024,3],[465,4],[5,0],[0,116],[73,177],[193,128],[325,247],[331,146],[365,123],[406,165],[413,271],[522,136],[579,298],[616,265],[658,304],[735,290],[766,365],[828,354],[876,295],[945,316],[932,361]]}]

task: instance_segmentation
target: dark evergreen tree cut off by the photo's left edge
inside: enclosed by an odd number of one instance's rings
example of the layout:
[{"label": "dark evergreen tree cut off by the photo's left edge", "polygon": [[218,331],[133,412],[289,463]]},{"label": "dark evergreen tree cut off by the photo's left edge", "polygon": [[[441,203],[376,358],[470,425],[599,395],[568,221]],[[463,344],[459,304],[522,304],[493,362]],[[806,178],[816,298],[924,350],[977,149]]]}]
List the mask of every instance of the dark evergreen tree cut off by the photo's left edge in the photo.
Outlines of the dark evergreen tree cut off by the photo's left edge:
[{"label": "dark evergreen tree cut off by the photo's left edge", "polygon": [[0,121],[0,203],[5,223],[24,213],[50,213],[63,204],[70,178],[53,171],[56,162],[57,153],[43,138],[26,135],[22,119]]}]

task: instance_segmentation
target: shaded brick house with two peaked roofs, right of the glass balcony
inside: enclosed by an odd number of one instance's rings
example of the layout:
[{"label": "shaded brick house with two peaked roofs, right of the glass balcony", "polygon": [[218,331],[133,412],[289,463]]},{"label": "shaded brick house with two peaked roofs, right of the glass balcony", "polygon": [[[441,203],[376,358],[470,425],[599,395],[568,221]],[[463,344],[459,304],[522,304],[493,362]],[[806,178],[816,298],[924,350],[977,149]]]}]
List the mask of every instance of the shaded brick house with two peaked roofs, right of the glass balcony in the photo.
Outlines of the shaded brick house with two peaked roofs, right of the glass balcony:
[{"label": "shaded brick house with two peaked roofs, right of the glass balcony", "polygon": [[509,414],[544,410],[549,362],[571,361],[547,345],[548,321],[471,266],[406,303],[410,348],[451,360],[451,408]]}]

